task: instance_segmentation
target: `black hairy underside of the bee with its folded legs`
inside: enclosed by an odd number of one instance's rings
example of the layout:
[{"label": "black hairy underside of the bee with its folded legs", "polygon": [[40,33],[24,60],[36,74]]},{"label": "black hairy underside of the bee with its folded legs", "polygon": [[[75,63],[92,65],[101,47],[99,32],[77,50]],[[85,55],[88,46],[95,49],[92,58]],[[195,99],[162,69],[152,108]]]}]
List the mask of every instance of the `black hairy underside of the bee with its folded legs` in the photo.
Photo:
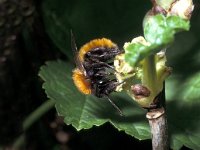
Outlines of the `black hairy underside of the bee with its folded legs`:
[{"label": "black hairy underside of the bee with its folded legs", "polygon": [[114,76],[114,57],[122,51],[118,47],[97,47],[85,54],[84,68],[91,80],[92,94],[105,97],[119,84]]}]

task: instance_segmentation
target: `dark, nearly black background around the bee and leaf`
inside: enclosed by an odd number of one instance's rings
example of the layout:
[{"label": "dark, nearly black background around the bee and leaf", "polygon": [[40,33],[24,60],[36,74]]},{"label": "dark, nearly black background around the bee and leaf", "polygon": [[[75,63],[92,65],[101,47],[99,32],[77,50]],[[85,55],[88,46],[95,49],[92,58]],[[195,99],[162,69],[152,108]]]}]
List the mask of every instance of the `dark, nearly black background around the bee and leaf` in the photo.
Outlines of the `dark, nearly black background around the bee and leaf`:
[{"label": "dark, nearly black background around the bee and leaf", "polygon": [[[194,1],[191,33],[200,40],[200,3]],[[22,122],[46,99],[41,65],[47,60],[72,61],[70,29],[78,46],[107,37],[119,47],[142,35],[147,0],[3,0],[0,2],[0,145],[9,149],[23,132]],[[178,37],[181,39],[181,35]],[[189,39],[190,40],[190,39]],[[198,42],[195,46],[199,48]],[[173,54],[169,57],[173,58]],[[170,59],[169,58],[169,59]],[[187,59],[182,63],[184,64]],[[171,61],[176,69],[176,62]],[[196,67],[196,66],[194,66]],[[178,70],[179,68],[177,68]],[[64,141],[60,138],[66,137]],[[77,132],[51,110],[26,132],[24,149],[151,149],[110,124]],[[187,149],[183,147],[182,149]]]}]

